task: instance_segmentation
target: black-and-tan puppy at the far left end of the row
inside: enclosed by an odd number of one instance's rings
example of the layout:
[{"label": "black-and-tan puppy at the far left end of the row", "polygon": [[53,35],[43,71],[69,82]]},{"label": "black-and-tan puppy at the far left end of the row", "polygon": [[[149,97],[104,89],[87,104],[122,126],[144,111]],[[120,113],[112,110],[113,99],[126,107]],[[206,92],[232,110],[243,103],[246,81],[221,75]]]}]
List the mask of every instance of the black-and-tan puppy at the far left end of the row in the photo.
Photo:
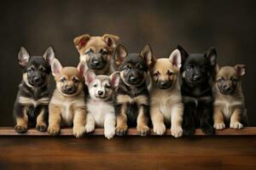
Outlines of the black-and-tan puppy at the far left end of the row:
[{"label": "black-and-tan puppy at the far left end of the row", "polygon": [[47,130],[49,90],[48,77],[50,62],[55,58],[53,48],[49,47],[44,56],[32,56],[21,47],[18,54],[23,78],[15,100],[15,131],[26,133],[28,127],[38,131]]}]

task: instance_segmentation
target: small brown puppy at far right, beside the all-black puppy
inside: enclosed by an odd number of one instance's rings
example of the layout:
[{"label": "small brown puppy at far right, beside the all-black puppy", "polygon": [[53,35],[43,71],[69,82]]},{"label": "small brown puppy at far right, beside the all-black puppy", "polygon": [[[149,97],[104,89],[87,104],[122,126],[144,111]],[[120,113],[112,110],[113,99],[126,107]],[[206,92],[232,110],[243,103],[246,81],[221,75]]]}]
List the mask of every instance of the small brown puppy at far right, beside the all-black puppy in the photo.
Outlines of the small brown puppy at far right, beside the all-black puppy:
[{"label": "small brown puppy at far right, beside the all-black puppy", "polygon": [[[214,127],[224,129],[247,126],[247,110],[241,91],[241,77],[245,75],[246,65],[224,66],[217,73],[214,92]],[[225,123],[226,122],[226,123]]]}]

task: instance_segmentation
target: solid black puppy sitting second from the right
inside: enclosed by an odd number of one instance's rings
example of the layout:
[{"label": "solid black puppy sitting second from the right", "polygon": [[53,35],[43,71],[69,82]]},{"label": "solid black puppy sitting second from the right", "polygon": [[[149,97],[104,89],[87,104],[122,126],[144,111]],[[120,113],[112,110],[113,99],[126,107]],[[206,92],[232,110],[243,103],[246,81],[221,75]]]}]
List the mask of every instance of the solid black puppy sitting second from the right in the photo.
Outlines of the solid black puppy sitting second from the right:
[{"label": "solid black puppy sitting second from the right", "polygon": [[181,46],[182,54],[182,94],[184,103],[183,132],[195,133],[201,127],[206,134],[213,134],[212,127],[212,84],[216,66],[216,50],[210,48],[205,54],[188,54]]}]

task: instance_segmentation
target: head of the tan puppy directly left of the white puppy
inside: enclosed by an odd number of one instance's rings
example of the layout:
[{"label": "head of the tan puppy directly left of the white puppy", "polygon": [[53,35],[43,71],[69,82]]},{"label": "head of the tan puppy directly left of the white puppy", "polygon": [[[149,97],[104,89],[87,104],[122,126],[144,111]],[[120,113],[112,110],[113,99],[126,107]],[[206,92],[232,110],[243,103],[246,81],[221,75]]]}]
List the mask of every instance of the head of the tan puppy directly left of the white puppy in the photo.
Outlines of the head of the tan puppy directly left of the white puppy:
[{"label": "head of the tan puppy directly left of the white puppy", "polygon": [[65,96],[75,96],[83,89],[85,63],[81,61],[77,68],[62,67],[58,59],[51,64],[52,74],[55,77],[56,88]]}]

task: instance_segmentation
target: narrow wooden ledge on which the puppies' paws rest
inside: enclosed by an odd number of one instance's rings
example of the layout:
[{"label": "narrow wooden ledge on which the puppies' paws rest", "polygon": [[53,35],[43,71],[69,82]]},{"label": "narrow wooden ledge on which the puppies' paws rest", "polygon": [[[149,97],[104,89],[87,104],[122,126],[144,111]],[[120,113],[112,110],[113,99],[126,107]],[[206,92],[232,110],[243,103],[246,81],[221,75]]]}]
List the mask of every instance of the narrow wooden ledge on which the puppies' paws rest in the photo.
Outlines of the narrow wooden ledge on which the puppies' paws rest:
[{"label": "narrow wooden ledge on which the puppies' paws rest", "polygon": [[[89,133],[86,135],[103,135],[104,130],[102,128],[96,128],[94,133]],[[14,127],[0,127],[0,135],[2,136],[49,136],[47,132],[42,133],[38,132],[35,128],[31,128],[27,131],[27,133],[16,133]],[[61,136],[72,136],[72,128],[62,128],[61,129]],[[85,136],[86,136],[85,135]],[[139,135],[137,134],[136,128],[128,129],[127,135]],[[150,129],[150,135],[156,135],[153,132],[153,129]],[[171,130],[167,129],[166,135],[171,135]],[[205,135],[201,132],[201,129],[195,130],[196,136]],[[224,135],[224,136],[232,136],[232,135],[256,135],[256,127],[245,127],[243,129],[230,129],[226,128],[224,130],[216,130],[215,135]]]}]

